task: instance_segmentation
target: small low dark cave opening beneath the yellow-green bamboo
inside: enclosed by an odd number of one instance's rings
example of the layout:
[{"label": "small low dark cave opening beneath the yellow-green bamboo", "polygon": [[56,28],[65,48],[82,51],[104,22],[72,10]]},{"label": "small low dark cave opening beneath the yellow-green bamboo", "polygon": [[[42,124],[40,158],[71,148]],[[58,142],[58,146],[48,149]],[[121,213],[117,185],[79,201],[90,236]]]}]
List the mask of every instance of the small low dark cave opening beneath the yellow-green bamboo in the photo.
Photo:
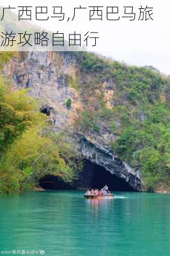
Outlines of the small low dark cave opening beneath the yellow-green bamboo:
[{"label": "small low dark cave opening beneath the yellow-green bamboo", "polygon": [[46,190],[58,190],[58,189],[72,189],[73,187],[70,184],[67,184],[59,177],[54,175],[46,175],[39,180],[39,185]]}]

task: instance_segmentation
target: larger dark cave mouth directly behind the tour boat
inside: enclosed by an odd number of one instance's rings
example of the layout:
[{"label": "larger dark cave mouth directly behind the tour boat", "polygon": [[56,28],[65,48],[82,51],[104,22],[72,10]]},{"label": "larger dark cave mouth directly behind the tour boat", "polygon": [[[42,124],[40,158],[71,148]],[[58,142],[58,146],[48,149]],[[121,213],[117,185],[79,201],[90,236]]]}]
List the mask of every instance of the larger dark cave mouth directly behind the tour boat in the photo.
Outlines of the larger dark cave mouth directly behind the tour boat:
[{"label": "larger dark cave mouth directly behind the tour boat", "polygon": [[[107,184],[111,191],[135,191],[125,180],[111,174],[103,166],[91,163],[89,160],[85,161],[83,172],[84,176],[89,177],[91,188],[101,189]],[[88,174],[89,172],[91,175]]]}]

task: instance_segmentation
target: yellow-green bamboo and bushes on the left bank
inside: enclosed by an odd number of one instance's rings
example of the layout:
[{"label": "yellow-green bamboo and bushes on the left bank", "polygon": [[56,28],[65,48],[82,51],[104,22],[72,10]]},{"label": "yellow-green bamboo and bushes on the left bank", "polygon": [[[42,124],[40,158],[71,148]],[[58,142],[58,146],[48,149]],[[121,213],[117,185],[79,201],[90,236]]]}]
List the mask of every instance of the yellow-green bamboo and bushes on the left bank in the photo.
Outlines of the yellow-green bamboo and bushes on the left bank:
[{"label": "yellow-green bamboo and bushes on the left bank", "polygon": [[0,193],[19,193],[47,174],[72,182],[77,152],[66,136],[50,134],[46,116],[26,90],[6,84],[0,77]]}]

